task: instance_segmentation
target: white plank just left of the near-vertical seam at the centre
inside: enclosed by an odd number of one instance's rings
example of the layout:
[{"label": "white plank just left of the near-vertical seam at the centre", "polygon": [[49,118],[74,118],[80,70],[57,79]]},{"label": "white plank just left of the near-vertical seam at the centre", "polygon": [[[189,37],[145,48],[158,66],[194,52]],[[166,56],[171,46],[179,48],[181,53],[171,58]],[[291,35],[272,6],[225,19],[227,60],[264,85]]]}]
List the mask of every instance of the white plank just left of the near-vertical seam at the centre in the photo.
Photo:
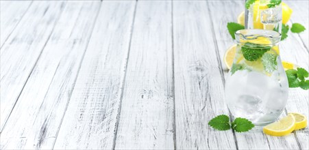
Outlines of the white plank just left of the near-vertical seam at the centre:
[{"label": "white plank just left of the near-vertical seam at the centre", "polygon": [[138,1],[116,149],[174,147],[171,23],[171,1]]}]

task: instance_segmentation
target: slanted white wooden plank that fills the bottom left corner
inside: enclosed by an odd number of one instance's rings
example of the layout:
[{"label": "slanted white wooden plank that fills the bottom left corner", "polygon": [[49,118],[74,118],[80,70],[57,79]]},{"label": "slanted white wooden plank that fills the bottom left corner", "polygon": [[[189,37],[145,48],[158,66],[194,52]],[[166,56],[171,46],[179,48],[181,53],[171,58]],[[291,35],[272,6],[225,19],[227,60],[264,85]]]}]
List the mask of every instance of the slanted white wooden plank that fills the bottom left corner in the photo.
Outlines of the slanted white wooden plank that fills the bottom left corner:
[{"label": "slanted white wooden plank that fills the bottom left corner", "polygon": [[1,149],[52,149],[100,3],[66,3],[1,132]]}]

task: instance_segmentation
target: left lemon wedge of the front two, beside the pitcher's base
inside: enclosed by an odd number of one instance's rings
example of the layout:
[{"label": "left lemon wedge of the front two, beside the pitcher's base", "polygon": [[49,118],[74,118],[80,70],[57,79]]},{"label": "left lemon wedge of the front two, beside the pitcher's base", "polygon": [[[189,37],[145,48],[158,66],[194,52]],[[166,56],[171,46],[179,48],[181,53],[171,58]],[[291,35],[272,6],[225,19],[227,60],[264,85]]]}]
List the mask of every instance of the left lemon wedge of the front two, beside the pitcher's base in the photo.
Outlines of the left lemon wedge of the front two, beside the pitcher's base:
[{"label": "left lemon wedge of the front two, beside the pitcher's base", "polygon": [[295,126],[295,117],[292,114],[288,114],[279,121],[264,126],[263,132],[271,136],[285,136],[293,132]]}]

